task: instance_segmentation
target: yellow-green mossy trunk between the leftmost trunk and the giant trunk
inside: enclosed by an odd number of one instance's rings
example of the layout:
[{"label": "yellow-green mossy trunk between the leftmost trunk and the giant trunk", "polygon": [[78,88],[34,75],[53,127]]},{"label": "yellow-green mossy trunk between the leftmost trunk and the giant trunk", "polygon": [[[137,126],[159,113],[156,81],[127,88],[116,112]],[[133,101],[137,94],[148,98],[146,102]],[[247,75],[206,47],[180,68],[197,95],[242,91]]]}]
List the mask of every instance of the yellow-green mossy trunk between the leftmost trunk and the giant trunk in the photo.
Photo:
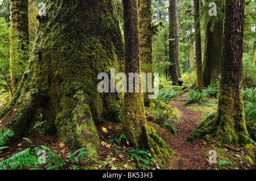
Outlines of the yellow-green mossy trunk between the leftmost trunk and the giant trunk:
[{"label": "yellow-green mossy trunk between the leftmost trunk and the giant trunk", "polygon": [[34,44],[36,31],[38,30],[39,21],[36,19],[38,15],[38,1],[28,0],[28,26],[30,32],[30,47]]}]

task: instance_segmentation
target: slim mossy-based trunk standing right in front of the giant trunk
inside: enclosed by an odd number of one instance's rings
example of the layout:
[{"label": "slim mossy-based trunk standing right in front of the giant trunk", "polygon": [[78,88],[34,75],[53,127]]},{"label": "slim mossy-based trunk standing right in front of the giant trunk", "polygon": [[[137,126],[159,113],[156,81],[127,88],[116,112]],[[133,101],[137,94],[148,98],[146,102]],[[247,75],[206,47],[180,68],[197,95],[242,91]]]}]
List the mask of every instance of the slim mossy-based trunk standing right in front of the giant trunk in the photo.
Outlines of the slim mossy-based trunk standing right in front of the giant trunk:
[{"label": "slim mossy-based trunk standing right in front of the giant trunk", "polygon": [[[123,1],[123,27],[125,35],[125,73],[127,80],[129,73],[141,73],[139,62],[139,22],[137,15],[137,0]],[[134,82],[134,78],[133,79]],[[134,83],[133,85],[134,88]],[[146,129],[146,116],[144,112],[143,94],[139,92],[126,92],[123,102],[122,132],[128,137],[136,149],[150,150]],[[128,89],[127,89],[128,90]]]}]

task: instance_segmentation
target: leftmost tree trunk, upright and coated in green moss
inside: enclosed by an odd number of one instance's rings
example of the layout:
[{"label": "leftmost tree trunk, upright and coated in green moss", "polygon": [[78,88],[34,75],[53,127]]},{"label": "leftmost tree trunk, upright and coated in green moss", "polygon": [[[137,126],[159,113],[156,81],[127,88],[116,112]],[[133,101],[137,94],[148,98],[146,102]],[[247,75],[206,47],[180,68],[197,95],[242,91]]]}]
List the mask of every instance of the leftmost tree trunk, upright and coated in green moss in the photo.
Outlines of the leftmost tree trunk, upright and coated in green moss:
[{"label": "leftmost tree trunk, upright and coated in green moss", "polygon": [[10,11],[10,72],[15,93],[29,57],[28,1],[10,0]]}]

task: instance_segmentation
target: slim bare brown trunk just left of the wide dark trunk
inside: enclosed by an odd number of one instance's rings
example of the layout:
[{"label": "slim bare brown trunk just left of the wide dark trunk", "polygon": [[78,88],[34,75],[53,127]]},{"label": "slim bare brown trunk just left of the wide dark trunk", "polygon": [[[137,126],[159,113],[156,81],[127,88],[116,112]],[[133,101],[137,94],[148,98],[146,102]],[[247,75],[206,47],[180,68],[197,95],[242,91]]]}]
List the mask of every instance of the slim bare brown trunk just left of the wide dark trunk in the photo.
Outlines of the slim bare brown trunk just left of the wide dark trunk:
[{"label": "slim bare brown trunk just left of the wide dark trunk", "polygon": [[195,20],[195,54],[196,54],[196,87],[201,91],[204,89],[203,65],[201,52],[201,27],[200,27],[200,3],[199,0],[193,1],[194,20]]}]

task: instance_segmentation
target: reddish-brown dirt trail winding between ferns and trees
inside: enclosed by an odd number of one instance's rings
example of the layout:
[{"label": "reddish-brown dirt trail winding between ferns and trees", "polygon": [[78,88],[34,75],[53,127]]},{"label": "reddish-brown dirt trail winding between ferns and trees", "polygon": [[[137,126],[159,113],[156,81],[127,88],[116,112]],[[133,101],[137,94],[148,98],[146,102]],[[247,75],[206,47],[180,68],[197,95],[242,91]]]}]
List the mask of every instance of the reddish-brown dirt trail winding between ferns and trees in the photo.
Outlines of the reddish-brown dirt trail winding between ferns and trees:
[{"label": "reddish-brown dirt trail winding between ferns and trees", "polygon": [[212,165],[207,161],[207,155],[204,152],[207,146],[203,142],[196,140],[187,141],[191,134],[200,124],[200,111],[193,111],[183,106],[185,94],[177,96],[177,101],[171,103],[171,106],[178,108],[182,112],[181,120],[175,125],[177,136],[171,140],[171,150],[175,151],[179,157],[177,169],[183,170],[204,170],[212,169]]}]

